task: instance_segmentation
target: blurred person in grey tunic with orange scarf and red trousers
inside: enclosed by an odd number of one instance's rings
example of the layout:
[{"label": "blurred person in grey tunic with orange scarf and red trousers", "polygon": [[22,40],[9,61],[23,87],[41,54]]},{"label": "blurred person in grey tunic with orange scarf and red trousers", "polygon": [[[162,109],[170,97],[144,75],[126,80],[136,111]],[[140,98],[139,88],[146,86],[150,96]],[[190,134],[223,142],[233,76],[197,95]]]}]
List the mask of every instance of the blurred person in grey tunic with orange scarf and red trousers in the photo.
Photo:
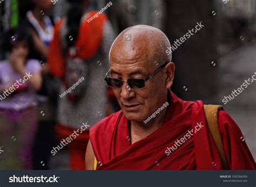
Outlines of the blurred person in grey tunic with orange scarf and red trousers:
[{"label": "blurred person in grey tunic with orange scarf and red trousers", "polygon": [[[55,25],[50,44],[50,72],[62,80],[59,90],[56,133],[59,140],[69,137],[83,123],[90,128],[107,113],[107,88],[102,78],[108,70],[108,53],[114,39],[107,16],[89,11],[90,1],[69,1],[66,16]],[[93,15],[95,19],[91,21]],[[78,79],[82,82],[67,95],[63,94]],[[84,170],[89,128],[68,144],[70,169]],[[55,150],[64,146],[58,144]],[[55,154],[54,154],[55,155]]]}]

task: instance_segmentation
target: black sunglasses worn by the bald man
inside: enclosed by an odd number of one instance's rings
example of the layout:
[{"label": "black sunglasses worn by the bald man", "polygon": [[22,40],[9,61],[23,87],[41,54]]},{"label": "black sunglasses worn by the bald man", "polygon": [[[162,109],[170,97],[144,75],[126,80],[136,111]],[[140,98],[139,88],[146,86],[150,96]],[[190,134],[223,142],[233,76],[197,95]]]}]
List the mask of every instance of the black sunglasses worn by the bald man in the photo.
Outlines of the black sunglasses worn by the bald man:
[{"label": "black sunglasses worn by the bald man", "polygon": [[[127,84],[130,86],[130,88],[143,88],[145,87],[145,82],[150,80],[154,75],[156,75],[161,69],[163,69],[169,61],[166,61],[163,65],[161,65],[156,71],[148,75],[145,79],[128,79]],[[104,79],[108,86],[114,87],[114,88],[120,88],[123,85],[123,81],[121,78],[113,78],[113,77],[107,77],[110,70],[106,73]]]}]

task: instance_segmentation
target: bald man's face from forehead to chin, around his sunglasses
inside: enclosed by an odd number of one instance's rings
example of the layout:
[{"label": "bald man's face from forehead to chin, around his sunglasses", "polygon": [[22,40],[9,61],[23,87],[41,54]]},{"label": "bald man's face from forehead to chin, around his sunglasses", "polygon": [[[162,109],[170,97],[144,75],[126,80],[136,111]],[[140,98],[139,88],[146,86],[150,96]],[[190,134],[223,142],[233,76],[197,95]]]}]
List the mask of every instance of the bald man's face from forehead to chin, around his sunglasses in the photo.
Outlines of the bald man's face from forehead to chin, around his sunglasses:
[{"label": "bald man's face from forehead to chin, around his sunglasses", "polygon": [[[110,53],[109,77],[127,81],[133,78],[146,78],[156,71],[160,64],[165,62],[150,61],[147,47],[139,40],[116,41]],[[167,87],[170,87],[170,82],[167,82],[165,68],[146,81],[144,88],[133,89],[124,82],[121,88],[113,88],[113,92],[126,119],[143,122],[166,102]]]}]

